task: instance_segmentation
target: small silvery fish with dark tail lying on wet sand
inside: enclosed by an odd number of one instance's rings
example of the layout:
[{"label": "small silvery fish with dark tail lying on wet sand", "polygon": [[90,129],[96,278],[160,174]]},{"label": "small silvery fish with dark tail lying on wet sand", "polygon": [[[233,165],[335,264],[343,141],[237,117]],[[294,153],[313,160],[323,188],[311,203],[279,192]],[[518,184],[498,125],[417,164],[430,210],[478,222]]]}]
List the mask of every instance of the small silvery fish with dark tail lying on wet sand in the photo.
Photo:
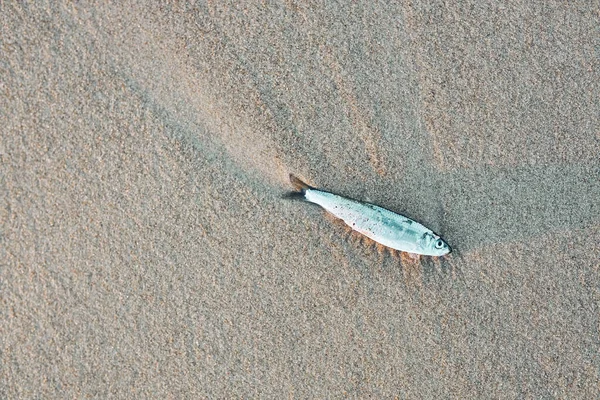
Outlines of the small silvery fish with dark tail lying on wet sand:
[{"label": "small silvery fish with dark tail lying on wet sand", "polygon": [[404,215],[314,188],[293,174],[290,174],[290,182],[295,191],[289,193],[289,197],[318,204],[352,230],[386,247],[433,257],[452,252],[452,248],[439,235]]}]

